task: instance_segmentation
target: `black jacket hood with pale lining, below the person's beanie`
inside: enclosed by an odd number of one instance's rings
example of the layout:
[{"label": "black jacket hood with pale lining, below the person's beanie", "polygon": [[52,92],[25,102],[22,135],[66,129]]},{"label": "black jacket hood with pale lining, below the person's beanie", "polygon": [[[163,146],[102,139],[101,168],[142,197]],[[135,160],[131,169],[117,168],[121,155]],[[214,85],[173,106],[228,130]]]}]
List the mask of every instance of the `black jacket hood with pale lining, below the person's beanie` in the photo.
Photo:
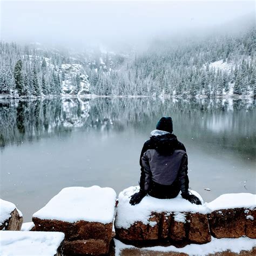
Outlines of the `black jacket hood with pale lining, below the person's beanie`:
[{"label": "black jacket hood with pale lining, below the person's beanie", "polygon": [[178,144],[176,135],[166,131],[154,130],[151,132],[151,136],[150,140],[159,154],[170,155],[176,150]]}]

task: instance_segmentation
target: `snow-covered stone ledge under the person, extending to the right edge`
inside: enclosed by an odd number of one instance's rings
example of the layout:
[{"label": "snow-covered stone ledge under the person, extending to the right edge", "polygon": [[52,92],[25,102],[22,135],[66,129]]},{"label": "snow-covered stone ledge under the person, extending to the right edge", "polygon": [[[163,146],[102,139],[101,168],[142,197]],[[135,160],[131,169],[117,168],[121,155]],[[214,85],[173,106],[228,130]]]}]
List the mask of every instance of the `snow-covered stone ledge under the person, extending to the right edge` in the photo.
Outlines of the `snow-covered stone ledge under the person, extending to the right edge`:
[{"label": "snow-covered stone ledge under the person, extending to the right edge", "polygon": [[167,241],[171,244],[204,244],[215,238],[256,239],[256,195],[223,194],[211,203],[191,204],[180,194],[173,199],[143,198],[130,205],[139,187],[120,192],[114,222],[117,238],[130,244]]}]

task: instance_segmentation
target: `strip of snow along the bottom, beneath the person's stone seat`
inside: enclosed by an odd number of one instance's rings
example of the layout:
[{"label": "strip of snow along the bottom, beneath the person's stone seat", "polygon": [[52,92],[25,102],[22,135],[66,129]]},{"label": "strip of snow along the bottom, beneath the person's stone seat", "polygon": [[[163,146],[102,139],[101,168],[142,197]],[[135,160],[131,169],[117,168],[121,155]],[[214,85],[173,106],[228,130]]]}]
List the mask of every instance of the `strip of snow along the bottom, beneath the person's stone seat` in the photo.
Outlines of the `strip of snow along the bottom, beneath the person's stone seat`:
[{"label": "strip of snow along the bottom, beneath the person's stone seat", "polygon": [[[137,248],[132,245],[125,245],[123,242],[114,239],[114,244],[116,246],[116,256],[122,254],[122,250],[125,249],[137,249],[140,252],[151,251],[156,252],[156,255],[159,252],[177,252],[177,253],[186,253],[188,255],[208,255],[218,252],[225,252],[227,250],[240,253],[242,250],[250,251],[254,246],[256,246],[256,239],[251,239],[247,237],[240,238],[221,238],[217,239],[212,237],[211,242],[208,242],[204,245],[190,244],[182,248],[177,248],[175,246],[153,246],[153,247],[144,247]],[[132,251],[131,251],[132,253]]]}]

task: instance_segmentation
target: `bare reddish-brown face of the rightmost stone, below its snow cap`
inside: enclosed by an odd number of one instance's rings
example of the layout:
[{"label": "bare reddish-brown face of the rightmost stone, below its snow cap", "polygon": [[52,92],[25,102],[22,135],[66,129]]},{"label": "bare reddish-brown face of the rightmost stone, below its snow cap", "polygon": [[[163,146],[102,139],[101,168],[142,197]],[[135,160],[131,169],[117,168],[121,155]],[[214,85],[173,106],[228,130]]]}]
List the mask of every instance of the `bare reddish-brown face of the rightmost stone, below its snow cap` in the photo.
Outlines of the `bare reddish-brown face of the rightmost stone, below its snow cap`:
[{"label": "bare reddish-brown face of the rightmost stone, below its snow cap", "polygon": [[256,238],[256,208],[216,210],[209,214],[211,234],[215,238]]}]

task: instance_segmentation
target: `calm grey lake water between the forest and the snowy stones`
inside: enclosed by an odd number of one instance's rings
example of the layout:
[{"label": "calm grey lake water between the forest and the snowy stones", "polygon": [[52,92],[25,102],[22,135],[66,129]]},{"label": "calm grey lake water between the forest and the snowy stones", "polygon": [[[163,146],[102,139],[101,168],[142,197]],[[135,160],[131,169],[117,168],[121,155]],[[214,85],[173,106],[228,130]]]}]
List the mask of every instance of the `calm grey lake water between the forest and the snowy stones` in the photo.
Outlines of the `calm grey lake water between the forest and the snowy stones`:
[{"label": "calm grey lake water between the forest and the snowy stones", "polygon": [[[211,201],[255,188],[253,99],[0,100],[1,198],[24,221],[63,187],[138,185],[139,155],[161,116],[188,154],[190,187]],[[206,191],[210,188],[211,191]]]}]

